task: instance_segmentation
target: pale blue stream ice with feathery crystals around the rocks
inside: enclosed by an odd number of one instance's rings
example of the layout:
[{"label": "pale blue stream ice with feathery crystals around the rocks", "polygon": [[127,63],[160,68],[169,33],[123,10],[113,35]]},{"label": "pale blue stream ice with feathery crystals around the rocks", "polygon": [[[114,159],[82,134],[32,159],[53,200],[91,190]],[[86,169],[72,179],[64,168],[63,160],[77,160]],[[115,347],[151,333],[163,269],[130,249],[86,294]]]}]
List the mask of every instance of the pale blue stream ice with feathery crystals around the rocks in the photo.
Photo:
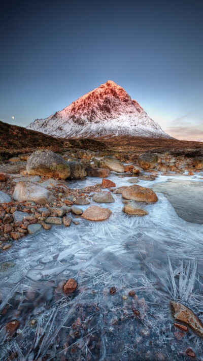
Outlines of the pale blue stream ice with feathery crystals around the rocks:
[{"label": "pale blue stream ice with feathery crystals around the rocks", "polygon": [[[130,185],[126,177],[110,179]],[[176,329],[169,306],[179,300],[203,321],[203,228],[181,219],[157,195],[156,204],[144,206],[149,215],[129,217],[121,211],[121,195],[113,194],[115,203],[101,205],[112,210],[109,220],[77,218],[79,225],[27,236],[1,255],[1,263],[15,264],[1,272],[1,361],[15,353],[20,361],[178,361],[191,359],[189,347],[203,360],[203,339]],[[65,297],[61,282],[70,277],[78,289]],[[130,290],[137,297],[129,297]],[[6,339],[4,325],[14,319],[20,327]]]}]

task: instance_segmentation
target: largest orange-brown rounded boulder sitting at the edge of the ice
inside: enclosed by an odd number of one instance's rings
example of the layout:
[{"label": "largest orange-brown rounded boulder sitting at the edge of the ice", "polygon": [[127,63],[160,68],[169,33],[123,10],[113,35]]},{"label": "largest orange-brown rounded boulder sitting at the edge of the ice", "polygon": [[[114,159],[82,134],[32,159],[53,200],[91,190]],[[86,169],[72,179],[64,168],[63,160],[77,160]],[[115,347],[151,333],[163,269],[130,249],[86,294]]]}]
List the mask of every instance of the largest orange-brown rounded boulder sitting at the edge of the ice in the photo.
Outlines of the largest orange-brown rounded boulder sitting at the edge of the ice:
[{"label": "largest orange-brown rounded boulder sitting at the edge of the ice", "polygon": [[139,185],[130,185],[122,191],[122,197],[127,200],[133,200],[137,202],[157,202],[158,198],[156,193],[145,187]]}]

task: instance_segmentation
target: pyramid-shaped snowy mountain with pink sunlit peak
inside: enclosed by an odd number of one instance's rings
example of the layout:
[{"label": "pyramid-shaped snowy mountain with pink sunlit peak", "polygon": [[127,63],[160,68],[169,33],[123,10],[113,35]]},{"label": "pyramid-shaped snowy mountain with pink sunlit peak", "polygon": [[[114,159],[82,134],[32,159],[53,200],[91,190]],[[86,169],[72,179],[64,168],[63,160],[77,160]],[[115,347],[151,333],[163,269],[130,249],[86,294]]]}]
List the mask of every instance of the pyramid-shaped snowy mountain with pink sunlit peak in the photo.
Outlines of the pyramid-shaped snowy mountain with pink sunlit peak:
[{"label": "pyramid-shaped snowy mountain with pink sunlit peak", "polygon": [[110,135],[171,138],[138,102],[110,80],[54,115],[36,119],[27,128],[59,138]]}]

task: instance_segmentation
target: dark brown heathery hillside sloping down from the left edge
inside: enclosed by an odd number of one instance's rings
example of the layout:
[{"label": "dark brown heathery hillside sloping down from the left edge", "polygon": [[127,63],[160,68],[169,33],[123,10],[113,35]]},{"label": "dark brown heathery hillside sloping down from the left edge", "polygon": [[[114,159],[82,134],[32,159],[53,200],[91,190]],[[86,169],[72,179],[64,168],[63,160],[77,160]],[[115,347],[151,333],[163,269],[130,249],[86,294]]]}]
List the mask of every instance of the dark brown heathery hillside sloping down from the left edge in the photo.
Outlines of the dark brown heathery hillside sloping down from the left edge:
[{"label": "dark brown heathery hillside sloping down from the left edge", "polygon": [[95,140],[62,140],[46,134],[0,121],[0,160],[8,159],[21,153],[30,153],[38,149],[50,149],[63,152],[70,148],[105,150],[107,147]]}]

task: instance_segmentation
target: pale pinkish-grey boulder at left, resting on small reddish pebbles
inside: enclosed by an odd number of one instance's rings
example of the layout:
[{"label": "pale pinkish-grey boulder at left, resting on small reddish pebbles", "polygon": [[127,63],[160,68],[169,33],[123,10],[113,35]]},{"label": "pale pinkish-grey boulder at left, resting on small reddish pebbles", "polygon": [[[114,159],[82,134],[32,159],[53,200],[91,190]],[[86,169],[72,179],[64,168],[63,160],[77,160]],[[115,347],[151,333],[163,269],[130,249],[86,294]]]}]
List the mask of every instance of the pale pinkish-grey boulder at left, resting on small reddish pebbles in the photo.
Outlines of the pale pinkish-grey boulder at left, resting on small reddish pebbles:
[{"label": "pale pinkish-grey boulder at left, resting on small reddish pebbles", "polygon": [[32,201],[36,204],[45,205],[55,200],[53,193],[41,187],[37,183],[19,182],[16,184],[13,192],[15,201]]}]

